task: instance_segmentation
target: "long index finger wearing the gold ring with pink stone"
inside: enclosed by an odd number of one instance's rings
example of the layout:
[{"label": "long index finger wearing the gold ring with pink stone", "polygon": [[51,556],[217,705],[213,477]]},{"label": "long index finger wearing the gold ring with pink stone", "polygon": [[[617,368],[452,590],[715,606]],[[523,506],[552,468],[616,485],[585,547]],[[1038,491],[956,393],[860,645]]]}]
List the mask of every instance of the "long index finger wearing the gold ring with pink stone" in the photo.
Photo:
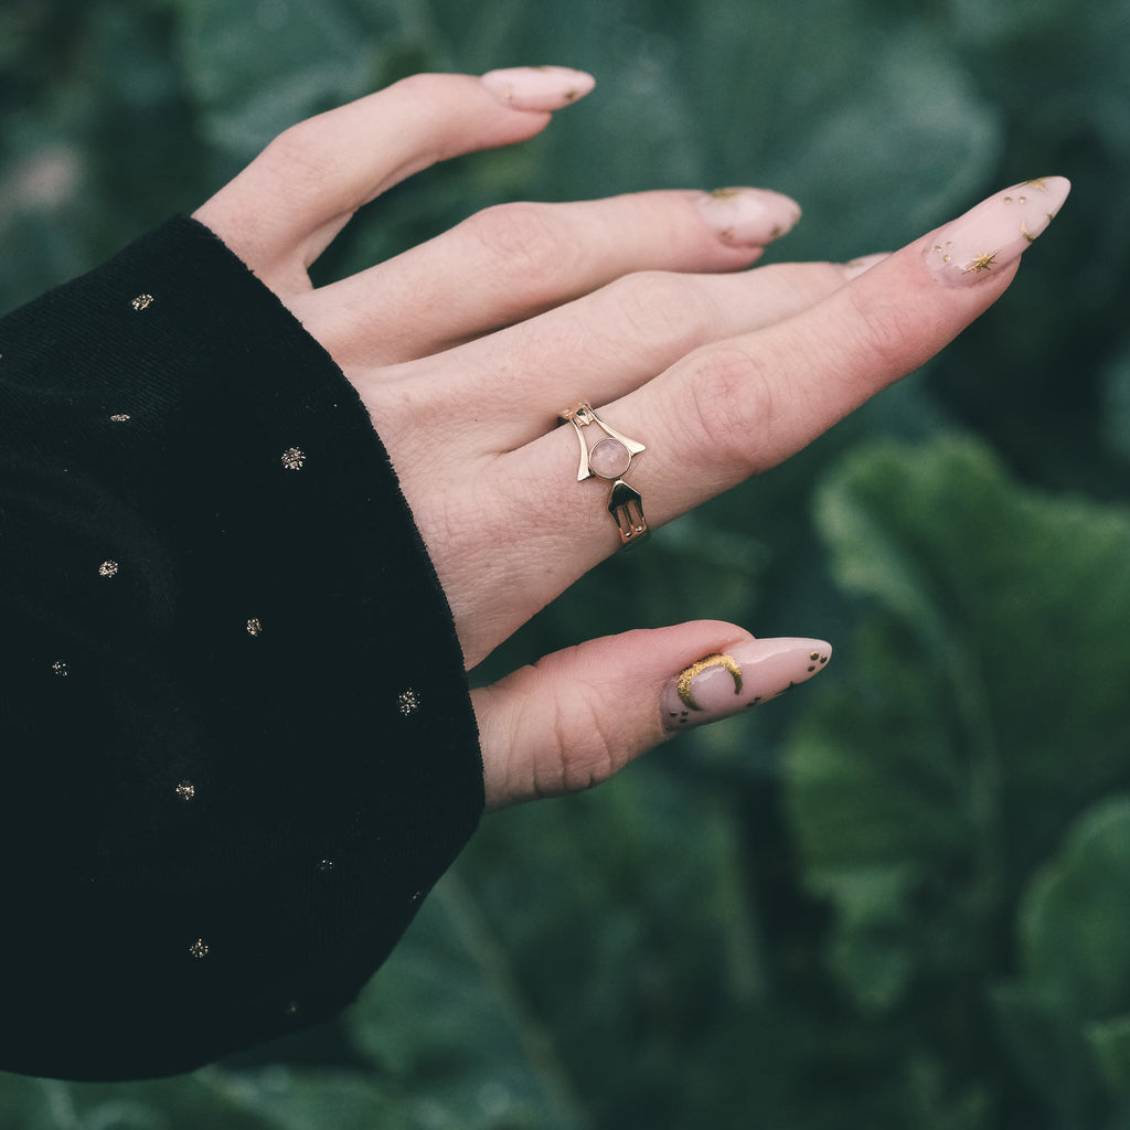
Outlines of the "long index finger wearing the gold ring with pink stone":
[{"label": "long index finger wearing the gold ring with pink stone", "polygon": [[[1048,177],[998,193],[802,313],[698,349],[598,406],[609,424],[647,444],[626,478],[643,494],[651,523],[775,466],[918,368],[1005,292],[1068,190],[1062,177]],[[577,505],[575,449],[575,436],[560,429],[515,452],[512,463],[521,466],[507,470],[524,481],[537,468],[541,504],[572,519],[560,523],[562,538],[577,546],[597,539],[593,553],[610,553],[618,542],[607,515],[594,499]]]}]

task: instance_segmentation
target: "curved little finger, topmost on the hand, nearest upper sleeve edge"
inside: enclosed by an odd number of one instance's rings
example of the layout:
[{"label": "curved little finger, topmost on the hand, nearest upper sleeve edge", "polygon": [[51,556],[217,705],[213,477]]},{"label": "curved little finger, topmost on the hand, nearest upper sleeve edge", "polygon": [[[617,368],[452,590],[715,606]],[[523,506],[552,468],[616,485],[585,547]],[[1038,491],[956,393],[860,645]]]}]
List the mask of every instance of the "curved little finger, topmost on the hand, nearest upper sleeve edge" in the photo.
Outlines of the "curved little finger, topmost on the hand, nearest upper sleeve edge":
[{"label": "curved little finger, topmost on the hand, nearest upper sleeve edge", "polygon": [[362,205],[436,162],[532,137],[591,88],[564,68],[415,75],[292,127],[195,216],[278,293],[298,292]]}]

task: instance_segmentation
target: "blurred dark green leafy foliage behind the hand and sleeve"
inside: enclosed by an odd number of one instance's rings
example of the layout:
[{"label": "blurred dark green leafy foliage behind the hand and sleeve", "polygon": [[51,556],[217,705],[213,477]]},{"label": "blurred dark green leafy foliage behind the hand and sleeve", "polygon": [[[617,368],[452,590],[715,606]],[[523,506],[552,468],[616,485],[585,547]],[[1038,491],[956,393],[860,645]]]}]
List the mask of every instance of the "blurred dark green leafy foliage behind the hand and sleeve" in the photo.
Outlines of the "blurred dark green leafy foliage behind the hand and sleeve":
[{"label": "blurred dark green leafy foliage behind the hand and sleeve", "polygon": [[823,259],[1075,192],[940,359],[483,673],[711,616],[833,640],[819,683],[488,819],[337,1024],[156,1084],[0,1076],[0,1125],[1130,1127],[1128,59],[1128,0],[3,0],[0,308],[423,69],[599,86],[328,275],[523,197],[767,184],[806,208],[771,259]]}]

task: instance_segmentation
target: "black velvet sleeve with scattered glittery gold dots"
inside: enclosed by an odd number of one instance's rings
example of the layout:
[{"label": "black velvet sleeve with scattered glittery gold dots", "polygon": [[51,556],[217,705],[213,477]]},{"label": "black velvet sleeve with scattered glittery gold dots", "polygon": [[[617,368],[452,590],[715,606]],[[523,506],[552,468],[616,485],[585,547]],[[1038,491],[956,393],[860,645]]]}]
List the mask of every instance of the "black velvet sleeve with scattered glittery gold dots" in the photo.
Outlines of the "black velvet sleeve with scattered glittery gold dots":
[{"label": "black velvet sleeve with scattered glittery gold dots", "polygon": [[169,221],[0,321],[0,1069],[332,1016],[473,831],[451,614],[356,392]]}]

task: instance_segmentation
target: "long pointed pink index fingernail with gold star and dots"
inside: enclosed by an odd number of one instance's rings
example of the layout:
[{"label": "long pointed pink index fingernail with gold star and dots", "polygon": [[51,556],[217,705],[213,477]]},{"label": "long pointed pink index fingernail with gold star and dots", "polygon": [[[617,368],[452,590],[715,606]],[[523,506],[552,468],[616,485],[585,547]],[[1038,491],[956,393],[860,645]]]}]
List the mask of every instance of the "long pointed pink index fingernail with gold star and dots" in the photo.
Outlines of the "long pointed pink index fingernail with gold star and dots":
[{"label": "long pointed pink index fingernail with gold star and dots", "polygon": [[945,286],[970,286],[1015,262],[1055,218],[1071,182],[1025,181],[983,200],[935,233],[923,255]]}]

